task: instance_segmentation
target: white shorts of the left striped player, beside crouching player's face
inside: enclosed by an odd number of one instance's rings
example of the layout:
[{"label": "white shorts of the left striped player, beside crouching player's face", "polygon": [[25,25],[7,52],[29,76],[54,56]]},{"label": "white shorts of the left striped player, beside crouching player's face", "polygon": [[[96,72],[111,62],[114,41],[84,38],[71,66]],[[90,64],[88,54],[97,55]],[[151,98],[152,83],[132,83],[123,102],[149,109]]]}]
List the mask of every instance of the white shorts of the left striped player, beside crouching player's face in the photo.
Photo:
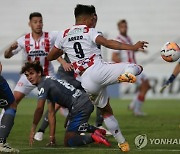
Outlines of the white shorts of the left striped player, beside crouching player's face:
[{"label": "white shorts of the left striped player, beside crouching player's face", "polygon": [[14,91],[28,95],[36,86],[32,85],[24,74],[21,75],[19,81],[14,88]]}]

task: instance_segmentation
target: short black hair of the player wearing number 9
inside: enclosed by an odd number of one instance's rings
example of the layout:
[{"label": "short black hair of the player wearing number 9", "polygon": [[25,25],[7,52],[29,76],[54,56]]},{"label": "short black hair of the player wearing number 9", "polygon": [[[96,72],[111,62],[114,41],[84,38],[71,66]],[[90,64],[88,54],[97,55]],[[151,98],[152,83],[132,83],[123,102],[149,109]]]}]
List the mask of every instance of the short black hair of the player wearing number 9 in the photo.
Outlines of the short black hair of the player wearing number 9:
[{"label": "short black hair of the player wearing number 9", "polygon": [[93,13],[96,14],[96,9],[93,5],[77,4],[74,9],[75,18],[80,15],[92,15]]}]

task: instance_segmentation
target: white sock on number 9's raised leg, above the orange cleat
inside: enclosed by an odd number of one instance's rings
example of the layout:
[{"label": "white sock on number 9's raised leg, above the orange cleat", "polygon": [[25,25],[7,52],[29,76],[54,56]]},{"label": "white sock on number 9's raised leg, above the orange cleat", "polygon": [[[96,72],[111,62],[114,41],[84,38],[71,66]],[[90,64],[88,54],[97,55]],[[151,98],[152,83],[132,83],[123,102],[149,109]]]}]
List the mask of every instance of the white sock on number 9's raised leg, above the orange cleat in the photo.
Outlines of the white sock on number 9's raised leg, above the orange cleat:
[{"label": "white sock on number 9's raised leg, above the orange cleat", "polygon": [[128,64],[124,72],[131,73],[133,75],[139,75],[142,72],[142,68],[137,64]]}]

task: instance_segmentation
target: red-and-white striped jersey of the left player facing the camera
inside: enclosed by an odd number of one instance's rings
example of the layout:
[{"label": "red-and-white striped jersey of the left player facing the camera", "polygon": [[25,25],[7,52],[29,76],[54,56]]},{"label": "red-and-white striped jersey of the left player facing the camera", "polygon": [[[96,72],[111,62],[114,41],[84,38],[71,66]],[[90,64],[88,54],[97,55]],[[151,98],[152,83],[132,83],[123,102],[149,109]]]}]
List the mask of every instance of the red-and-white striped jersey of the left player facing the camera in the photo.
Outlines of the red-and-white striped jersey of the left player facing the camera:
[{"label": "red-and-white striped jersey of the left player facing the camera", "polygon": [[58,32],[43,32],[43,35],[38,41],[35,41],[31,33],[20,37],[18,48],[13,50],[13,54],[17,54],[22,50],[23,61],[40,61],[44,69],[45,75],[54,76],[54,67],[50,61],[47,60],[47,55],[54,46]]}]

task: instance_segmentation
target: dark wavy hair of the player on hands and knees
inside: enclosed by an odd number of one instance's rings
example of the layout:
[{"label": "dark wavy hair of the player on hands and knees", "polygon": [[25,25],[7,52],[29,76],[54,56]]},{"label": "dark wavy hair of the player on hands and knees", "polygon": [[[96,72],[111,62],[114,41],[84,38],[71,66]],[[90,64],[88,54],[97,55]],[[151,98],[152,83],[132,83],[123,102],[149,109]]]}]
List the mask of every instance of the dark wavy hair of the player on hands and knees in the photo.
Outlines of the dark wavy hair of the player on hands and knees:
[{"label": "dark wavy hair of the player on hands and knees", "polygon": [[39,61],[26,62],[21,69],[21,74],[25,73],[26,71],[29,71],[30,69],[34,69],[37,73],[41,72],[41,76],[44,76],[43,68]]}]

